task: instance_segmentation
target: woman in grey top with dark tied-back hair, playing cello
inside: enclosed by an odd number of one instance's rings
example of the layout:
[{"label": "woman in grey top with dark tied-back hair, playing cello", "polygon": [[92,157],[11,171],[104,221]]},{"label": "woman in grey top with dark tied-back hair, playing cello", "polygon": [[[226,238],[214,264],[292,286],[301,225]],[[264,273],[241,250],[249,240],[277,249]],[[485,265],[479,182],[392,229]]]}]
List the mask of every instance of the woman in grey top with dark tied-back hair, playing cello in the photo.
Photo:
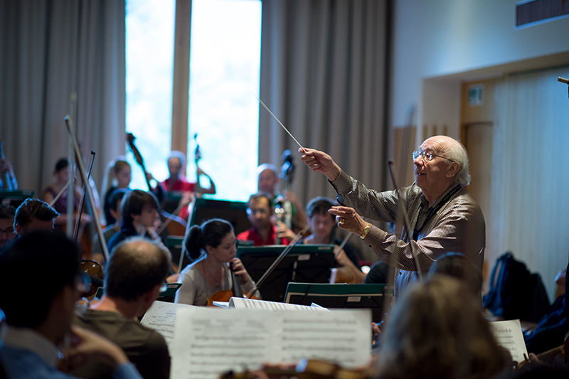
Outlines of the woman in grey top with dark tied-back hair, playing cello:
[{"label": "woman in grey top with dark tied-back hair, playing cello", "polygon": [[[228,264],[232,265],[243,292],[255,288],[247,270],[235,257],[235,233],[227,221],[213,218],[193,225],[184,240],[184,248],[193,262],[180,274],[182,287],[176,292],[176,303],[205,306],[214,294],[233,290]],[[254,295],[260,297],[258,292]]]}]

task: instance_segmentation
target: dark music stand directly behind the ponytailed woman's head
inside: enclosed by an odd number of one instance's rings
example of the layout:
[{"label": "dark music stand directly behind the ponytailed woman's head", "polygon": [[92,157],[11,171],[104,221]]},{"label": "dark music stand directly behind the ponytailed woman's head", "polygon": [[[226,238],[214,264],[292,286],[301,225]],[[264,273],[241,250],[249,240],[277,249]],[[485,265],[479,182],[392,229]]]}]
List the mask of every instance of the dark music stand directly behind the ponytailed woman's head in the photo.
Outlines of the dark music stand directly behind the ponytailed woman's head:
[{"label": "dark music stand directly behind the ponytailed woman's head", "polygon": [[247,218],[247,203],[196,198],[193,202],[190,225],[200,225],[211,218],[222,218],[228,221],[233,225],[235,235],[251,228],[251,223]]}]

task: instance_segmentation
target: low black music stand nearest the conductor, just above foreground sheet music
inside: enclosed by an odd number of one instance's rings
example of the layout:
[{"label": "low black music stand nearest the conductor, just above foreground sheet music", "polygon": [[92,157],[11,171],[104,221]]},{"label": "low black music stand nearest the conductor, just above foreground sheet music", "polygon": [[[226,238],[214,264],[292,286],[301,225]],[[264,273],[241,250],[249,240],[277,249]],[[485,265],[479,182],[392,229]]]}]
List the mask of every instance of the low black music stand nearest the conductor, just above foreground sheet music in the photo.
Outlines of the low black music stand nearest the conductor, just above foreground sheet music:
[{"label": "low black music stand nearest the conductor, just above foreground sheet music", "polygon": [[372,321],[379,322],[383,319],[383,297],[390,291],[393,292],[393,286],[386,284],[289,283],[285,303],[371,309]]}]

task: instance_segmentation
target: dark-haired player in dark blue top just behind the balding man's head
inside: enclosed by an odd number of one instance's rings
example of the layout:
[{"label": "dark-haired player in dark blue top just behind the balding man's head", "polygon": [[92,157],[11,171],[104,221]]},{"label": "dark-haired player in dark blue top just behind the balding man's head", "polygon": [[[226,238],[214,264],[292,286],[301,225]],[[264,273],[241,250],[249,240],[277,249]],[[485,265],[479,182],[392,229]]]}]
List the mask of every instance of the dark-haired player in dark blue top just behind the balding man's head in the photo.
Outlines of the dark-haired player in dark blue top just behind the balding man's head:
[{"label": "dark-haired player in dark blue top just behind the balding man's head", "polygon": [[137,235],[155,242],[160,241],[154,230],[156,220],[159,218],[159,205],[154,194],[132,190],[122,198],[120,211],[122,217],[120,230],[107,242],[109,251],[128,237]]}]

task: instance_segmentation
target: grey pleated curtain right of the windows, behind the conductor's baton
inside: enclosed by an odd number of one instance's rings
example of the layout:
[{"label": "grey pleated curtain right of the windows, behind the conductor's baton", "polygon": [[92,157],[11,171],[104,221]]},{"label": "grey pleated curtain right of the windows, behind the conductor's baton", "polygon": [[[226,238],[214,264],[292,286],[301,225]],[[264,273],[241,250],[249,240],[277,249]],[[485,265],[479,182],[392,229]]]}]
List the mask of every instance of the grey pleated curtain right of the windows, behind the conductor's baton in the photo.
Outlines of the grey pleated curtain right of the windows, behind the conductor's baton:
[{"label": "grey pleated curtain right of the windows, behind the conductor's baton", "polygon": [[[349,174],[383,189],[388,2],[268,0],[262,3],[261,99],[303,146],[321,149]],[[298,146],[261,108],[259,161],[280,166]],[[296,152],[293,191],[302,203],[335,196]]]}]

